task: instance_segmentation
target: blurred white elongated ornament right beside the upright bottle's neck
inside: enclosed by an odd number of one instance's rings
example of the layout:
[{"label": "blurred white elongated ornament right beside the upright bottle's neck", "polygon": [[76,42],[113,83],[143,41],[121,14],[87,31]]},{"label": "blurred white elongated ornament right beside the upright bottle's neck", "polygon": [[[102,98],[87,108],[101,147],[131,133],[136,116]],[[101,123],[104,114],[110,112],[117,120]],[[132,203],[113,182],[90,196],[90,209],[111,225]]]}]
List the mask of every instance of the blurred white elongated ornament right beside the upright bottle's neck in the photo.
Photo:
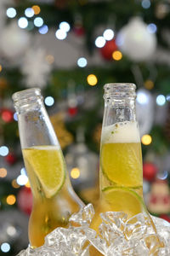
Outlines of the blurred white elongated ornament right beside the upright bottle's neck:
[{"label": "blurred white elongated ornament right beside the upright bottle's neck", "polygon": [[139,122],[140,137],[148,134],[154,121],[154,98],[148,90],[137,91],[136,113]]}]

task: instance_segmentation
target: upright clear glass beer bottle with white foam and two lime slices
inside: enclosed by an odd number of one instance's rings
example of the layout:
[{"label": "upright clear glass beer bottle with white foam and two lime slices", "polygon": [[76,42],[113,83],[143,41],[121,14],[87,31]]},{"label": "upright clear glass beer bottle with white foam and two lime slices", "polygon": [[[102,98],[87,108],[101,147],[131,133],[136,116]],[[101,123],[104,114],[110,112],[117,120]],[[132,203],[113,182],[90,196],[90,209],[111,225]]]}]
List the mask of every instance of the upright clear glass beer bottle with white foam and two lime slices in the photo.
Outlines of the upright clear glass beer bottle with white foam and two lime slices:
[{"label": "upright clear glass beer bottle with white foam and two lime slices", "polygon": [[105,84],[104,88],[100,195],[91,227],[98,231],[100,212],[126,212],[127,218],[144,212],[156,231],[143,200],[142,153],[135,108],[136,85]]}]

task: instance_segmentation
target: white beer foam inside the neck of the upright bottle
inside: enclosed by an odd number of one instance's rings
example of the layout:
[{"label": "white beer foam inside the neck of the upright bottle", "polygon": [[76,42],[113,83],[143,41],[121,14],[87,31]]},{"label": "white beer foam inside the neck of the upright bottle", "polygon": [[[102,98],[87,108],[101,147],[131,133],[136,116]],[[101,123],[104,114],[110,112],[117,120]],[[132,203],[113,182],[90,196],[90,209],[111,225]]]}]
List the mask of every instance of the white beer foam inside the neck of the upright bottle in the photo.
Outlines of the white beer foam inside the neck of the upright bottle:
[{"label": "white beer foam inside the neck of the upright bottle", "polygon": [[102,143],[140,143],[138,122],[126,121],[103,127]]}]

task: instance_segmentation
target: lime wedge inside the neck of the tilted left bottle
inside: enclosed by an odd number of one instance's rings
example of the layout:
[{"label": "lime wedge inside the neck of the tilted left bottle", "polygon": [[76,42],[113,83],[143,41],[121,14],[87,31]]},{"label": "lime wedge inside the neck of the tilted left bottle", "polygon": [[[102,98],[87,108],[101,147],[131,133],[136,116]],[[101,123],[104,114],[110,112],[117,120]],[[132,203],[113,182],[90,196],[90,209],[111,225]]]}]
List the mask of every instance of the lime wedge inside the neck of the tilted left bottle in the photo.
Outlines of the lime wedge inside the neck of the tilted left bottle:
[{"label": "lime wedge inside the neck of the tilted left bottle", "polygon": [[45,196],[51,198],[65,182],[65,162],[61,150],[56,146],[37,146],[23,149],[23,155],[28,176],[31,180],[37,176]]}]

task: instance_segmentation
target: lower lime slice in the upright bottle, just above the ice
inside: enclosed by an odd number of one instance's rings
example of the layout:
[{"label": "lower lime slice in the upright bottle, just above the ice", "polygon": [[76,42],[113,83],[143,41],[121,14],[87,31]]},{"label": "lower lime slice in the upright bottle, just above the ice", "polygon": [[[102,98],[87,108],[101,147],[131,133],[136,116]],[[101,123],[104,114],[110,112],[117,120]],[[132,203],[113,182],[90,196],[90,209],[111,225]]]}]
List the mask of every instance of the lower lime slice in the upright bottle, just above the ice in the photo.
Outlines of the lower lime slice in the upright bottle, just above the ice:
[{"label": "lower lime slice in the upright bottle, just above the ice", "polygon": [[113,212],[125,212],[127,218],[131,218],[139,212],[144,212],[145,206],[142,197],[128,188],[116,187],[103,190],[102,199]]}]

